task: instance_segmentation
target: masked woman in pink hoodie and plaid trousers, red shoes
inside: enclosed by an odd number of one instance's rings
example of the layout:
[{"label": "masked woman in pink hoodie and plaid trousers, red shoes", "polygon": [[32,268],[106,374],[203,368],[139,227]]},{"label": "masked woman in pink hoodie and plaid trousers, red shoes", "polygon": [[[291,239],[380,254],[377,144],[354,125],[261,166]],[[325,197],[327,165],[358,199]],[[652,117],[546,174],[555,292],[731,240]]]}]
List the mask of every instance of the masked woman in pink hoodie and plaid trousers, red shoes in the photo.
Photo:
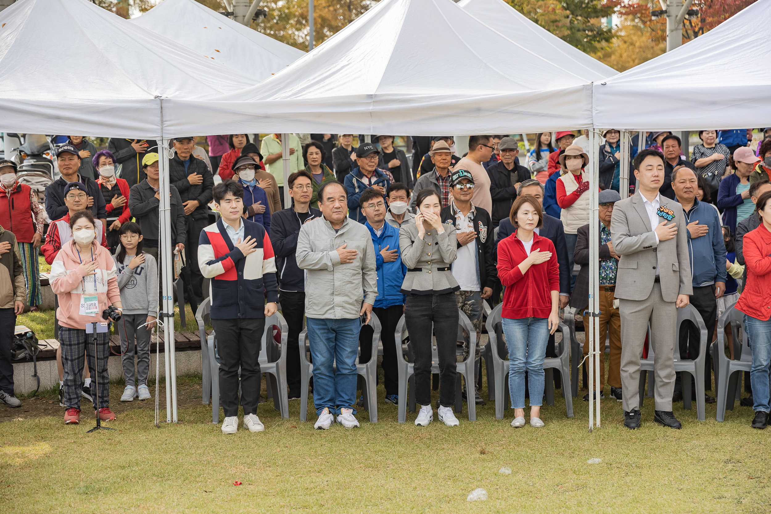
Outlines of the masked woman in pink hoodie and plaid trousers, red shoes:
[{"label": "masked woman in pink hoodie and plaid trousers, red shoes", "polygon": [[68,425],[77,425],[80,421],[84,354],[92,375],[98,376],[99,418],[115,419],[109,410],[109,333],[97,332],[96,351],[93,335],[86,335],[86,325],[106,322],[102,312],[109,305],[119,312],[121,309],[115,261],[109,250],[96,243],[95,227],[91,211],[79,210],[72,214],[69,218],[72,240],[62,245],[51,264],[51,290],[59,297],[56,317],[64,366],[64,422]]}]

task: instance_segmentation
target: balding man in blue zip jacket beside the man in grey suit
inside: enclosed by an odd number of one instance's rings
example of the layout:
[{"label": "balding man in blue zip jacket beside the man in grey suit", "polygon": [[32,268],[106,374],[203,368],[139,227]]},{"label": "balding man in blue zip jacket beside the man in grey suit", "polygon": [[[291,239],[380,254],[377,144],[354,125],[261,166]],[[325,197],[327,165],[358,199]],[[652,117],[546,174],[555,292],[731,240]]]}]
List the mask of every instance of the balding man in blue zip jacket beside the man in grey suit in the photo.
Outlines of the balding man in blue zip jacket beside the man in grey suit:
[{"label": "balding man in blue zip jacket beside the man in grey suit", "polygon": [[[681,166],[672,171],[672,190],[682,205],[685,214],[688,253],[691,259],[693,294],[691,304],[696,307],[707,328],[707,343],[712,341],[715,320],[718,314],[717,299],[726,291],[726,244],[723,242],[720,217],[709,203],[699,202],[696,191],[699,182],[696,174],[688,167]],[[680,358],[699,357],[700,331],[693,324],[683,324],[680,328]],[[709,353],[705,355],[705,389],[712,388]],[[682,400],[680,376],[675,380],[675,394],[672,401]],[[690,380],[690,378],[688,379]],[[696,399],[695,388],[691,389],[692,399]],[[715,398],[705,395],[707,403],[714,403]]]}]

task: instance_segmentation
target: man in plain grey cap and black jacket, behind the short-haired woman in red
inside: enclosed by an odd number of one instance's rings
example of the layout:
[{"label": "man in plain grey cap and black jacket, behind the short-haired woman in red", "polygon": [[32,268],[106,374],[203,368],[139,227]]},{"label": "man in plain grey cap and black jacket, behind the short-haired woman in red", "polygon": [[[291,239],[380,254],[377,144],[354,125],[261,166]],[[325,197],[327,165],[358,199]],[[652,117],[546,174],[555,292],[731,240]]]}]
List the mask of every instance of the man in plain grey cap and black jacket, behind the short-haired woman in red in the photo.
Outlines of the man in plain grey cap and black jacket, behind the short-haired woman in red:
[{"label": "man in plain grey cap and black jacket, behind the short-haired woman in red", "polygon": [[500,220],[509,217],[511,204],[517,198],[517,187],[530,178],[530,170],[517,164],[520,147],[513,137],[504,137],[498,143],[500,161],[490,164],[487,175],[490,176],[490,196],[493,197],[493,227]]}]

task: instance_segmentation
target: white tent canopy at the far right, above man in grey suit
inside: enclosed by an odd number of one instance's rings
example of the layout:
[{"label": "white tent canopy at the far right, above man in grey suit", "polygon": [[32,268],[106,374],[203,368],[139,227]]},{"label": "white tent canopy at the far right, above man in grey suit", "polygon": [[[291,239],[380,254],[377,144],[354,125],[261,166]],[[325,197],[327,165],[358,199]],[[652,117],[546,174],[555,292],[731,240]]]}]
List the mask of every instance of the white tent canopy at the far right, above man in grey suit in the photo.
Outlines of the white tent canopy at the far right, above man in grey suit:
[{"label": "white tent canopy at the far right, above man in grey suit", "polygon": [[744,129],[771,125],[771,1],[603,83],[594,126]]}]

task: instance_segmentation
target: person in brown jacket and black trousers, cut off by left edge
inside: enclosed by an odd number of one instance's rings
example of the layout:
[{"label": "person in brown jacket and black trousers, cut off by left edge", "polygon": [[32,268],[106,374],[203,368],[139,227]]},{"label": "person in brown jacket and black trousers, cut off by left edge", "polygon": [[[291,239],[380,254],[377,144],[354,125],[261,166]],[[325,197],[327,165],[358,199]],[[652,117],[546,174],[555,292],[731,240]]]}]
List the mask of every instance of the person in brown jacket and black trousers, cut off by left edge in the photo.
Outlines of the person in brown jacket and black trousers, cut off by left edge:
[{"label": "person in brown jacket and black trousers, cut off by left edge", "polygon": [[12,232],[0,227],[0,400],[8,407],[22,402],[13,395],[11,345],[16,316],[24,311],[27,297],[19,247]]}]

